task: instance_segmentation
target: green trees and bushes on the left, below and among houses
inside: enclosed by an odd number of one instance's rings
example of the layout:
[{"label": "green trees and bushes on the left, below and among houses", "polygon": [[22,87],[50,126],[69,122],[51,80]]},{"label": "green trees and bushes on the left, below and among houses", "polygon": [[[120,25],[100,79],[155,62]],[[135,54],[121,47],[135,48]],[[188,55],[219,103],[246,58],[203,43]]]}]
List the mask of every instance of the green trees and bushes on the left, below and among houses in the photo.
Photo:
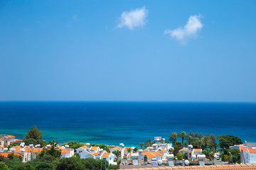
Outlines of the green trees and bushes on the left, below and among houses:
[{"label": "green trees and bushes on the left, below and among houses", "polygon": [[[55,149],[55,146],[58,145],[58,142],[53,140],[51,142],[46,142],[43,140],[42,132],[39,131],[36,126],[33,126],[31,130],[28,131],[26,137],[23,138],[23,141],[26,145],[38,145],[46,146],[51,145],[50,149],[44,148],[41,153],[38,154],[37,159],[32,159],[29,162],[22,163],[22,157],[15,156],[14,154],[9,154],[7,158],[0,157],[0,169],[3,170],[71,170],[71,169],[119,169],[119,165],[110,166],[107,161],[96,160],[93,158],[80,159],[78,154],[75,154],[70,158],[61,158],[61,152],[58,149]],[[77,149],[78,147],[82,147],[85,144],[79,142],[68,142],[70,148]],[[9,147],[13,147],[19,145],[17,143],[12,144]],[[102,149],[109,150],[107,145],[95,145]]]}]

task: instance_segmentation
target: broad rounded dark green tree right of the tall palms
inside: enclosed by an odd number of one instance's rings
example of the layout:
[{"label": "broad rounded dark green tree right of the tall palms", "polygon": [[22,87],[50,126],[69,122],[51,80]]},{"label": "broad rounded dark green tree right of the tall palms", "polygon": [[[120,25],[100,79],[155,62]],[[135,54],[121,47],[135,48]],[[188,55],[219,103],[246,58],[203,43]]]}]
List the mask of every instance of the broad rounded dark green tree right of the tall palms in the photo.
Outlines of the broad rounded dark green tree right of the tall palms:
[{"label": "broad rounded dark green tree right of the tall palms", "polygon": [[220,148],[229,148],[233,145],[242,144],[242,140],[239,137],[235,137],[233,135],[220,135],[217,137],[220,145]]}]

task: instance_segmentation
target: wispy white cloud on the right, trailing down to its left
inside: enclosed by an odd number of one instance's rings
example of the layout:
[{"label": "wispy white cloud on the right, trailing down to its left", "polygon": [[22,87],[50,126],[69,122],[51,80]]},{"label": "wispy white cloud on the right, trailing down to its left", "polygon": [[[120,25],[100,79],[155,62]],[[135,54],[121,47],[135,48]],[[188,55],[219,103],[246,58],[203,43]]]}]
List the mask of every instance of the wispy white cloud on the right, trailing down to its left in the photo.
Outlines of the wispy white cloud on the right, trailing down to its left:
[{"label": "wispy white cloud on the right, trailing down to its left", "polygon": [[196,38],[196,35],[201,28],[203,23],[200,21],[201,16],[189,16],[186,26],[183,28],[176,28],[175,30],[164,30],[164,34],[169,34],[171,38],[176,38],[181,42],[186,42],[188,38]]}]

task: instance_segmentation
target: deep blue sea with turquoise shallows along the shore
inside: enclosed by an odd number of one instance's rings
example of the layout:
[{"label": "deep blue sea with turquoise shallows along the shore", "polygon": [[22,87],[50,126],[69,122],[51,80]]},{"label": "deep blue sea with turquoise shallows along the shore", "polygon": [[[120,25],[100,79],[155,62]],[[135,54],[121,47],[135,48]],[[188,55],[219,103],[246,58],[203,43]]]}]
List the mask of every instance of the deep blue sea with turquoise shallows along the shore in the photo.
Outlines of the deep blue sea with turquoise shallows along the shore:
[{"label": "deep blue sea with turquoise shallows along the shore", "polygon": [[0,134],[126,146],[192,130],[256,142],[256,103],[0,102]]}]

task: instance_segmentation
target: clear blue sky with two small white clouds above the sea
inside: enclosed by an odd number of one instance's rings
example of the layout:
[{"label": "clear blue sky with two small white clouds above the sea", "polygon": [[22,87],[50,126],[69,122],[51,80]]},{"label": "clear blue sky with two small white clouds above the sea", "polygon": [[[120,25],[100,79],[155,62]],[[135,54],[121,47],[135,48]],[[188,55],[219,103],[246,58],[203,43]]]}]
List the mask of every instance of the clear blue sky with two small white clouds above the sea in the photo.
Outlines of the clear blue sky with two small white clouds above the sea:
[{"label": "clear blue sky with two small white clouds above the sea", "polygon": [[256,101],[256,1],[0,1],[0,101]]}]

